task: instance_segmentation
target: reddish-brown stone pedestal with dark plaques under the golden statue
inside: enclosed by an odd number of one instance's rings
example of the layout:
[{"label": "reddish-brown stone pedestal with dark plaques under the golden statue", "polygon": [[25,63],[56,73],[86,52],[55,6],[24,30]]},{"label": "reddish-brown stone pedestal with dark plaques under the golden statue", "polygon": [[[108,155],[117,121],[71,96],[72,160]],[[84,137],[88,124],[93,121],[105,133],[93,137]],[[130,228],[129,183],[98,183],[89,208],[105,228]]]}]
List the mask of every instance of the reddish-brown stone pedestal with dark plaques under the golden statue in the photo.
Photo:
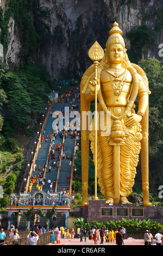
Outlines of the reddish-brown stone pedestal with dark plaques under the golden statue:
[{"label": "reddish-brown stone pedestal with dark plaques under the golden statue", "polygon": [[87,222],[99,221],[105,222],[110,220],[122,220],[122,218],[139,218],[145,217],[155,221],[163,218],[163,207],[136,206],[136,204],[106,204],[105,200],[90,200],[89,205],[82,208],[83,217]]}]

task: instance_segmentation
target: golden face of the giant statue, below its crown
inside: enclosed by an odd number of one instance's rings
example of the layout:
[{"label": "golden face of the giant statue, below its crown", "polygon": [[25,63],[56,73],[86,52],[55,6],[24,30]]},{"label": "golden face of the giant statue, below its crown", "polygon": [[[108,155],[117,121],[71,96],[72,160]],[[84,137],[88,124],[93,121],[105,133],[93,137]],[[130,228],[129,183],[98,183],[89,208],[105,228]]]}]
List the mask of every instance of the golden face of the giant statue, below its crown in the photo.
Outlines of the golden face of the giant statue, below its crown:
[{"label": "golden face of the giant statue, below its crown", "polygon": [[121,44],[112,44],[108,52],[108,59],[110,63],[120,64],[123,62],[124,51]]}]

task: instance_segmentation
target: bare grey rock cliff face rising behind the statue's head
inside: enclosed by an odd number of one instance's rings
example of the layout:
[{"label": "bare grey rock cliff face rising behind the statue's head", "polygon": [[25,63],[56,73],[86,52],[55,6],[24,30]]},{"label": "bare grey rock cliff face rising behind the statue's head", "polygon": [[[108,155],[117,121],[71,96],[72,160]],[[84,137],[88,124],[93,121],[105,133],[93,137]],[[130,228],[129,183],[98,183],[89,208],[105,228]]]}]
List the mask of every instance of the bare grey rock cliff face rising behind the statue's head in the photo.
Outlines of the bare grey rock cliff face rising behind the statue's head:
[{"label": "bare grey rock cliff face rising behind the statue's head", "polygon": [[[4,2],[4,1],[3,1]],[[87,55],[89,48],[97,40],[105,48],[108,32],[116,21],[129,49],[130,42],[126,32],[137,26],[148,25],[154,29],[156,15],[142,19],[150,10],[160,10],[162,1],[158,0],[40,0],[41,7],[48,9],[51,18],[51,43],[47,42],[37,53],[37,60],[47,66],[53,79],[78,78],[78,72],[84,72],[91,65]],[[5,66],[9,62],[21,62],[21,41],[10,20],[9,47],[5,57]],[[152,50],[147,49],[142,58],[158,58],[158,47],[162,43],[161,29],[158,40]]]}]

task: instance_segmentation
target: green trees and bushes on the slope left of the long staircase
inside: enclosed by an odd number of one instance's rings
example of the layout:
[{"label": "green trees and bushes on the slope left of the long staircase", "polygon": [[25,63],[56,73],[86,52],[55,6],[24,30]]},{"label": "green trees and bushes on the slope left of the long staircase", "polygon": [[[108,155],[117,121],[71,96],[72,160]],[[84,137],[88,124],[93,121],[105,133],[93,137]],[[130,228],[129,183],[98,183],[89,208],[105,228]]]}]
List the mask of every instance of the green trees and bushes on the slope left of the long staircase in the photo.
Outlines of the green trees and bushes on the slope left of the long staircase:
[{"label": "green trees and bushes on the slope left of the long staircase", "polygon": [[32,135],[33,120],[39,120],[52,87],[43,65],[0,70],[0,185],[4,192],[0,208],[5,207],[22,170],[23,152],[17,133]]}]

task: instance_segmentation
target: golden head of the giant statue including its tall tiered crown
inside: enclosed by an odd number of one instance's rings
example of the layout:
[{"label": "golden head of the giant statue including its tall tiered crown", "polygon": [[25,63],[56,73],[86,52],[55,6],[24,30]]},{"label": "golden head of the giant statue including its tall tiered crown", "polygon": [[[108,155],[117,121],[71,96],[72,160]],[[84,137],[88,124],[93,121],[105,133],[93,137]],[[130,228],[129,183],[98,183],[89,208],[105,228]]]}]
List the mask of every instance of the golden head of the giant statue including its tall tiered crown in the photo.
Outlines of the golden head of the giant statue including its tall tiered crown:
[{"label": "golden head of the giant statue including its tall tiered crown", "polygon": [[114,23],[113,27],[109,31],[109,38],[106,42],[106,49],[104,54],[104,66],[109,67],[109,63],[122,64],[125,68],[129,65],[129,60],[127,56],[127,49],[125,48],[124,39],[121,34],[122,31],[118,27],[118,23]]}]

